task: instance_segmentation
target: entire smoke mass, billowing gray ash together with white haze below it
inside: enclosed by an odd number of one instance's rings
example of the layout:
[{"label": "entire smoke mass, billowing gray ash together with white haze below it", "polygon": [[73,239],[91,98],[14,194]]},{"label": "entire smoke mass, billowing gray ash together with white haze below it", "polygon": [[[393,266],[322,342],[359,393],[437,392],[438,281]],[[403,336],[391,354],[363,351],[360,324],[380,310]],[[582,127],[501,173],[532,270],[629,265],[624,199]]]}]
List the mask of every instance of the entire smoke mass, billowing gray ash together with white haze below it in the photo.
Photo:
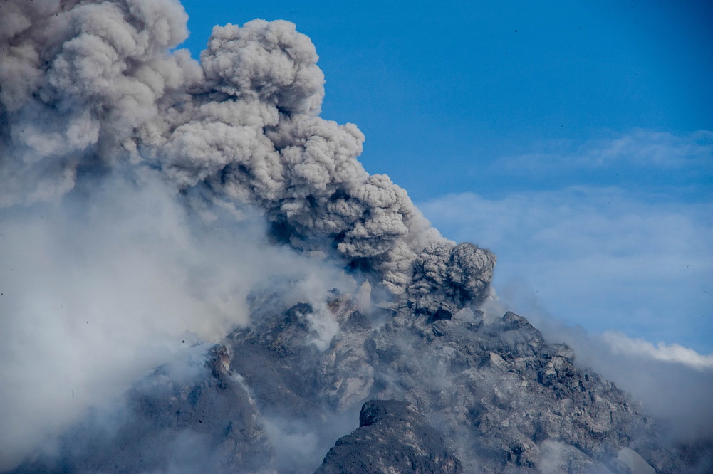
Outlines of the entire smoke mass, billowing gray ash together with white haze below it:
[{"label": "entire smoke mass, billowing gray ash together with white haze below it", "polygon": [[186,21],[174,0],[0,2],[0,470],[249,324],[255,287],[311,303],[319,347],[342,269],[431,309],[488,293],[493,254],[441,237],[364,170],[355,125],[319,117],[307,36],[216,27],[199,62],[171,51]]}]

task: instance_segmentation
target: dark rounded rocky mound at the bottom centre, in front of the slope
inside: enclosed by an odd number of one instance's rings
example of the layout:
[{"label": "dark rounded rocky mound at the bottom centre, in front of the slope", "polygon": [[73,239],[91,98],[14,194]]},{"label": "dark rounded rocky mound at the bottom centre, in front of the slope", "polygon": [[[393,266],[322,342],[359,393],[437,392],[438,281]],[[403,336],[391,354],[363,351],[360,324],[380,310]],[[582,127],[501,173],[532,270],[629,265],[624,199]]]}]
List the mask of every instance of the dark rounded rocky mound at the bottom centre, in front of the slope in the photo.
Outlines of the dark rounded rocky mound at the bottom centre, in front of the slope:
[{"label": "dark rounded rocky mound at the bottom centre, in front of the slope", "polygon": [[364,403],[359,428],[337,440],[317,474],[462,473],[418,408],[395,400]]}]

